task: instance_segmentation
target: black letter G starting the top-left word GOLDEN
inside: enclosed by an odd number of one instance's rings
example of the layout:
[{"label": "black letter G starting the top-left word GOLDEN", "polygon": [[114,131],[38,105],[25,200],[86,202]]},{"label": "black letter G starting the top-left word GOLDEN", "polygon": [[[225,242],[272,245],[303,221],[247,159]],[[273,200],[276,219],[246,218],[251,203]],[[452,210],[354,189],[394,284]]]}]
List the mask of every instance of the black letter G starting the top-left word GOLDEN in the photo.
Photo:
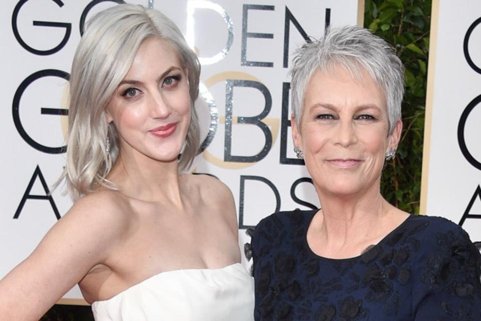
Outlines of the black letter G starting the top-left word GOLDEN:
[{"label": "black letter G starting the top-left word GOLDEN", "polygon": [[[12,30],[14,32],[14,35],[15,35],[15,38],[17,39],[17,41],[19,42],[19,44],[27,51],[35,54],[35,55],[39,55],[39,56],[48,56],[48,55],[52,55],[52,54],[55,54],[56,52],[60,51],[62,48],[64,48],[64,46],[67,44],[67,42],[69,41],[70,39],[70,34],[72,33],[72,25],[71,24],[68,24],[68,23],[61,23],[61,22],[49,22],[49,21],[34,21],[33,22],[33,25],[34,26],[41,26],[41,27],[53,27],[53,28],[65,28],[65,35],[64,35],[64,38],[62,39],[62,41],[55,47],[55,48],[52,48],[52,49],[49,49],[49,50],[38,50],[38,49],[35,49],[35,48],[32,48],[30,47],[29,45],[27,45],[27,43],[22,39],[22,37],[20,36],[20,33],[19,33],[19,29],[18,29],[18,26],[17,26],[17,20],[18,20],[18,17],[19,17],[19,12],[20,12],[20,9],[22,8],[23,5],[25,5],[25,3],[27,2],[28,0],[21,0],[19,1],[19,3],[17,4],[17,6],[15,6],[15,9],[14,9],[14,12],[13,12],[13,15],[12,15]],[[62,8],[64,6],[64,4],[62,3],[62,1],[60,0],[52,0],[52,2],[54,2],[57,6],[59,6],[60,8]]]}]

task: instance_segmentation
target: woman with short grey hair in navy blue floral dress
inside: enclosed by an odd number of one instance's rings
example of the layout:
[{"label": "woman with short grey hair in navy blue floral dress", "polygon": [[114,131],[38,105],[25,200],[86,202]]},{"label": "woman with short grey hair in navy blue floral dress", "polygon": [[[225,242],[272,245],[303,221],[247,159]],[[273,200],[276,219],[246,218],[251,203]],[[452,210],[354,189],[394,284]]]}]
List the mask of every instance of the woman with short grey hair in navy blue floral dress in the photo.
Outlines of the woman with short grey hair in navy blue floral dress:
[{"label": "woman with short grey hair in navy blue floral dress", "polygon": [[322,209],[256,227],[256,320],[481,320],[481,256],[467,234],[380,194],[402,94],[400,60],[367,30],[332,28],[298,51],[293,139]]}]

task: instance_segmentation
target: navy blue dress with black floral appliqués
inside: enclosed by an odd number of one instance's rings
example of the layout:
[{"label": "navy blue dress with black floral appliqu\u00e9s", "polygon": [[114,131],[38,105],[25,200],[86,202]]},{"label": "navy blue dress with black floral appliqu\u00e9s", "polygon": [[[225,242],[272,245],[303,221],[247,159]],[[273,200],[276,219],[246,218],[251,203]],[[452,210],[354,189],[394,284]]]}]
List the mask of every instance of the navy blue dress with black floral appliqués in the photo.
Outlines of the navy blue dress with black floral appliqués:
[{"label": "navy blue dress with black floral appliqu\u00e9s", "polygon": [[481,255],[458,225],[411,215],[364,254],[328,259],[307,243],[315,213],[256,227],[256,320],[481,320]]}]

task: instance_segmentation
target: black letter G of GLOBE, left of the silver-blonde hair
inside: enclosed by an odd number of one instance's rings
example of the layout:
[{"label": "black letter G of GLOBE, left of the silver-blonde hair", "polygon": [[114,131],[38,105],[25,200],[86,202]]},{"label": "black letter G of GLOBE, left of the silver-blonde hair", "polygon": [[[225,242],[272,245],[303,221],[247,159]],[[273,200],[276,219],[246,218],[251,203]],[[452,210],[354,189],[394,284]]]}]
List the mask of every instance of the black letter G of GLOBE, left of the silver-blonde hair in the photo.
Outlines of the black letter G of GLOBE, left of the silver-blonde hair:
[{"label": "black letter G of GLOBE, left of the silver-blonde hair", "polygon": [[[28,76],[20,84],[19,88],[15,92],[14,101],[12,104],[12,113],[13,113],[14,123],[15,123],[15,127],[17,128],[17,131],[29,145],[31,145],[37,150],[40,150],[46,153],[59,154],[59,153],[65,152],[67,150],[67,146],[49,147],[49,146],[45,146],[38,143],[32,137],[30,137],[29,134],[25,131],[24,127],[22,126],[22,122],[20,120],[20,112],[19,112],[20,100],[22,99],[22,95],[25,89],[27,89],[27,87],[37,79],[40,79],[42,77],[49,77],[49,76],[60,77],[67,81],[69,80],[68,73],[61,70],[57,70],[57,69],[45,69],[45,70],[40,70],[33,73],[32,75]],[[47,115],[67,115],[68,110],[60,109],[60,108],[42,108],[41,113],[47,114]]]}]

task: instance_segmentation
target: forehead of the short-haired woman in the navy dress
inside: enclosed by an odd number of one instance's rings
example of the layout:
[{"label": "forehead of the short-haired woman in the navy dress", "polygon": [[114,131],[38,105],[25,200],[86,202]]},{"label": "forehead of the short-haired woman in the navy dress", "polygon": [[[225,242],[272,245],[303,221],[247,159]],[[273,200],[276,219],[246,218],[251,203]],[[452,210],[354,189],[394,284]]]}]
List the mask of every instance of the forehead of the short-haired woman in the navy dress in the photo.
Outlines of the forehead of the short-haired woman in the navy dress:
[{"label": "forehead of the short-haired woman in the navy dress", "polygon": [[387,111],[384,92],[362,67],[359,73],[349,72],[339,65],[314,72],[306,87],[304,111],[316,104],[339,108],[377,105]]}]

